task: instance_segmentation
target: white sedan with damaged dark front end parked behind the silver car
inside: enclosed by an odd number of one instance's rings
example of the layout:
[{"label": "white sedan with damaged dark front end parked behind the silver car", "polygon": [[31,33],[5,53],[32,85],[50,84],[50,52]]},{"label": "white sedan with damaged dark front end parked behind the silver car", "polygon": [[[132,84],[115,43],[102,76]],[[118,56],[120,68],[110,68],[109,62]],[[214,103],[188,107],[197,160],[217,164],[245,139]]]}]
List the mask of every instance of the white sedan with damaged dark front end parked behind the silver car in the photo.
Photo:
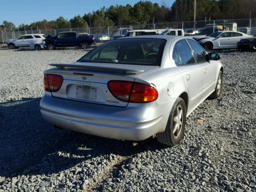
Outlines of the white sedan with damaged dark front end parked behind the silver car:
[{"label": "white sedan with damaged dark front end parked behind the silver car", "polygon": [[218,31],[210,34],[209,36],[194,39],[196,39],[205,50],[210,51],[213,49],[237,48],[237,42],[248,37],[250,36],[242,32]]}]

